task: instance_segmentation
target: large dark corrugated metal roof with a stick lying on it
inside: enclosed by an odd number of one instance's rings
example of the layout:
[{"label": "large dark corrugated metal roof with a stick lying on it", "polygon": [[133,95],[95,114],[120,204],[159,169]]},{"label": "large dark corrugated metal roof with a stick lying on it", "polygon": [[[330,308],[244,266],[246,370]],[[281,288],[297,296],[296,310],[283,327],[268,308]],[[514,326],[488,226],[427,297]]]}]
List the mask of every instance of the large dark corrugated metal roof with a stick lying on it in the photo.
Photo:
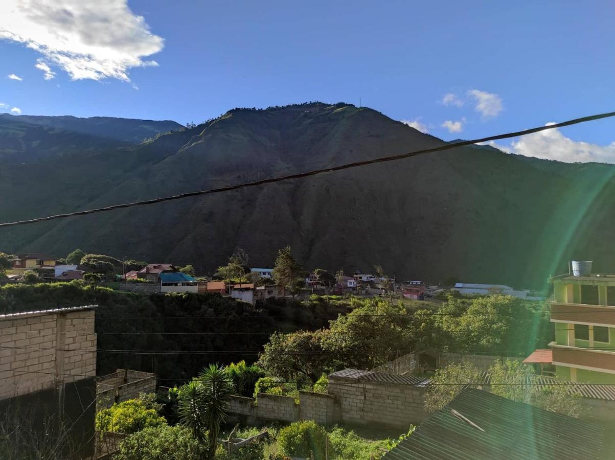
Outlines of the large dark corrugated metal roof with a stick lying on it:
[{"label": "large dark corrugated metal roof with a stick lying on it", "polygon": [[579,460],[605,454],[605,429],[599,425],[468,388],[384,459]]}]

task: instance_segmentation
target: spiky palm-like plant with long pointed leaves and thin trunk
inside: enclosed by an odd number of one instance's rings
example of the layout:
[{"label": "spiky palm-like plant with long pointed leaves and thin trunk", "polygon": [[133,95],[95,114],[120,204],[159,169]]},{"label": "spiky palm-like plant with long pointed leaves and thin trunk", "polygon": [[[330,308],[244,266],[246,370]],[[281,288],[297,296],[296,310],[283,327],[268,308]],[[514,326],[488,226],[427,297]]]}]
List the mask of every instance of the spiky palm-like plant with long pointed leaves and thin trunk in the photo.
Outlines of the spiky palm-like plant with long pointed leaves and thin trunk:
[{"label": "spiky palm-like plant with long pointed leaves and thin trunk", "polygon": [[[213,458],[221,425],[226,421],[226,407],[233,393],[232,381],[224,367],[210,364],[198,378],[180,389],[178,399],[181,422],[201,443],[208,440],[208,457]],[[208,430],[208,435],[206,432]]]}]

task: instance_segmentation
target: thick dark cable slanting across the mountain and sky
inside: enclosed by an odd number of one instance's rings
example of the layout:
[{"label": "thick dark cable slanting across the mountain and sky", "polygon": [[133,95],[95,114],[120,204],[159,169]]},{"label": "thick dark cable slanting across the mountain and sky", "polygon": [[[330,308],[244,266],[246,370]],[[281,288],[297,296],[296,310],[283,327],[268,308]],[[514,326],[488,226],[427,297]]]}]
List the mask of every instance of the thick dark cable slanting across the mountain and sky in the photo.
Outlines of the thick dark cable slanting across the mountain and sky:
[{"label": "thick dark cable slanting across the mountain and sky", "polygon": [[469,140],[469,141],[461,141],[461,142],[455,142],[455,143],[446,143],[445,145],[438,146],[438,147],[432,147],[432,148],[428,148],[428,149],[421,149],[421,150],[416,150],[416,151],[413,151],[413,152],[402,153],[402,154],[393,155],[393,156],[379,157],[379,158],[375,158],[375,159],[371,159],[371,160],[355,161],[355,162],[352,162],[352,163],[346,163],[346,164],[342,164],[342,165],[338,165],[338,166],[333,166],[333,167],[330,167],[330,168],[324,168],[324,169],[315,169],[315,170],[311,170],[311,171],[307,171],[307,172],[303,172],[303,173],[296,173],[296,174],[290,174],[290,175],[286,175],[286,176],[273,177],[273,178],[269,178],[269,179],[257,180],[257,181],[253,181],[253,182],[247,182],[247,183],[242,183],[242,184],[230,185],[230,186],[214,188],[214,189],[207,189],[207,190],[200,190],[200,191],[182,193],[182,194],[173,195],[173,196],[167,196],[167,197],[162,197],[162,198],[155,198],[155,199],[151,199],[151,200],[135,201],[135,202],[132,202],[132,203],[116,204],[116,205],[106,206],[106,207],[102,207],[102,208],[94,208],[94,209],[89,209],[89,210],[84,210],[84,211],[56,214],[56,215],[52,215],[52,216],[39,217],[39,218],[36,218],[36,219],[30,219],[30,220],[6,222],[6,223],[1,223],[0,227],[10,227],[10,226],[15,226],[15,225],[32,224],[32,223],[42,222],[42,221],[49,221],[49,220],[62,219],[62,218],[73,217],[73,216],[82,216],[82,215],[94,214],[94,213],[99,213],[99,212],[106,212],[106,211],[111,211],[111,210],[120,209],[120,208],[130,208],[130,207],[134,207],[134,206],[143,206],[143,205],[162,203],[162,202],[165,202],[165,201],[178,200],[178,199],[183,199],[183,198],[188,198],[188,197],[193,197],[193,196],[201,196],[201,195],[215,194],[215,193],[220,193],[220,192],[228,192],[228,191],[231,191],[231,190],[237,190],[237,189],[242,189],[242,188],[247,188],[247,187],[255,187],[255,186],[260,186],[260,185],[264,185],[264,184],[271,184],[271,183],[275,183],[275,182],[280,182],[280,181],[286,181],[286,180],[292,180],[292,179],[300,179],[300,178],[304,178],[304,177],[319,175],[319,174],[322,174],[322,173],[336,172],[336,171],[341,171],[341,170],[344,170],[344,169],[355,168],[355,167],[359,167],[359,166],[365,166],[365,165],[376,164],[376,163],[384,163],[384,162],[389,162],[389,161],[397,161],[397,160],[401,160],[401,159],[405,159],[405,158],[410,158],[410,157],[414,157],[414,156],[418,156],[418,155],[422,155],[422,154],[426,154],[426,153],[441,152],[441,151],[445,151],[445,150],[449,150],[449,149],[453,149],[453,148],[465,147],[465,146],[474,145],[474,144],[478,144],[478,143],[482,143],[482,142],[487,142],[487,141],[494,141],[494,140],[507,139],[507,138],[511,138],[511,137],[524,136],[524,135],[527,135],[527,134],[541,132],[541,131],[548,130],[548,129],[555,129],[555,128],[560,128],[560,127],[564,127],[564,126],[584,123],[584,122],[588,122],[588,121],[594,121],[594,120],[599,120],[599,119],[603,119],[603,118],[613,117],[613,116],[615,116],[615,112],[597,114],[597,115],[592,115],[592,116],[587,116],[587,117],[575,118],[575,119],[572,119],[572,120],[568,120],[568,121],[564,121],[564,122],[556,123],[556,124],[552,124],[552,125],[539,126],[539,127],[536,127],[536,128],[526,129],[526,130],[522,130],[522,131],[516,131],[516,132],[511,132],[511,133],[505,133],[505,134],[499,134],[499,135],[494,135],[494,136],[489,136],[489,137],[483,137],[483,138],[480,138],[480,139],[474,139],[474,140]]}]

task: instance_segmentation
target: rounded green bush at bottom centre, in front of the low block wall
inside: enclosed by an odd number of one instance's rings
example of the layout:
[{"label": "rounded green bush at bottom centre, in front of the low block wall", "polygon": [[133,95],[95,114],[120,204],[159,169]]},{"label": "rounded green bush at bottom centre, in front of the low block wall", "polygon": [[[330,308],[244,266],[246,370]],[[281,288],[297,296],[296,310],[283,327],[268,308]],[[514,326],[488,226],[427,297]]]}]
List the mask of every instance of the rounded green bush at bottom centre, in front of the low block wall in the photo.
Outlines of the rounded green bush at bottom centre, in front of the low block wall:
[{"label": "rounded green bush at bottom centre, in front of the low block wall", "polygon": [[282,453],[291,457],[325,458],[328,435],[325,429],[313,420],[295,422],[280,430],[277,443]]}]

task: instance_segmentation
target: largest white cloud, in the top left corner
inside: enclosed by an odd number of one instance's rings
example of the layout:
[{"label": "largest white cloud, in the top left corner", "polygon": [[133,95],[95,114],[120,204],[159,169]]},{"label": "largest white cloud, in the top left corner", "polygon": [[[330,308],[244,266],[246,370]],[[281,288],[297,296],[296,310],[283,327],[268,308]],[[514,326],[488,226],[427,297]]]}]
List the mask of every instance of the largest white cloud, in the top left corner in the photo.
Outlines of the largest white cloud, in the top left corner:
[{"label": "largest white cloud, in the top left corner", "polygon": [[129,69],[157,65],[143,58],[164,46],[127,0],[2,0],[0,9],[0,39],[26,44],[45,58],[37,68],[55,65],[73,80],[130,81]]}]

